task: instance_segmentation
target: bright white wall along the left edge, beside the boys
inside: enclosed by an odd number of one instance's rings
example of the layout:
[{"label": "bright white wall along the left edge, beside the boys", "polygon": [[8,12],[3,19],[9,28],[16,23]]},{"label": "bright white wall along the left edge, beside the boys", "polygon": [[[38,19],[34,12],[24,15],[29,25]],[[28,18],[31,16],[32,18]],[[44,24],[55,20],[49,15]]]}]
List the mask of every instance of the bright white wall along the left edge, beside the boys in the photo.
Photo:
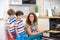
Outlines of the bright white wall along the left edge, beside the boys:
[{"label": "bright white wall along the left edge, beside the boys", "polygon": [[0,0],[0,18],[3,18],[3,20],[0,20],[0,40],[7,40],[6,39],[6,31],[5,31],[5,18],[6,11],[8,9],[8,0]]}]

